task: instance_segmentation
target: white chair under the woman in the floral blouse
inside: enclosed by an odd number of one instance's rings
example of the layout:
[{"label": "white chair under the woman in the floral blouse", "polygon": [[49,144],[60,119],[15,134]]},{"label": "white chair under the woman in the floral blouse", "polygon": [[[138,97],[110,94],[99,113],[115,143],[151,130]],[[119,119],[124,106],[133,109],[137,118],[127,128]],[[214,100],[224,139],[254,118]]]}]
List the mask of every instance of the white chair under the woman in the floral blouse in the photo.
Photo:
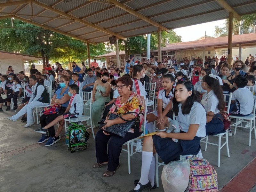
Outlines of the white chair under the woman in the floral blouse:
[{"label": "white chair under the woman in the floral blouse", "polygon": [[[145,135],[145,134],[146,134],[146,116],[147,116],[147,107],[146,107],[146,106],[147,106],[147,104],[148,104],[148,98],[147,98],[146,100],[142,100],[142,102],[143,102],[143,107],[144,107],[144,109],[145,109],[144,121],[143,121],[143,127],[144,127],[144,129],[143,129],[142,135]],[[141,136],[142,136],[142,135],[141,135]],[[133,152],[132,141],[136,141],[136,140],[138,140],[138,139],[139,139],[139,137],[137,137],[137,138],[135,138],[135,139],[132,139],[132,140],[129,140],[129,141],[127,141],[126,143],[124,143],[124,144],[122,145],[122,146],[127,145],[127,150],[124,149],[124,148],[122,148],[122,150],[127,152],[127,156],[128,156],[128,173],[129,173],[129,174],[131,174],[131,159],[130,159],[130,157],[133,156],[133,154],[139,152],[139,151]],[[131,149],[130,149],[130,145],[131,145]],[[142,149],[141,149],[141,150],[142,150]],[[140,150],[140,151],[141,151],[141,150]]]}]

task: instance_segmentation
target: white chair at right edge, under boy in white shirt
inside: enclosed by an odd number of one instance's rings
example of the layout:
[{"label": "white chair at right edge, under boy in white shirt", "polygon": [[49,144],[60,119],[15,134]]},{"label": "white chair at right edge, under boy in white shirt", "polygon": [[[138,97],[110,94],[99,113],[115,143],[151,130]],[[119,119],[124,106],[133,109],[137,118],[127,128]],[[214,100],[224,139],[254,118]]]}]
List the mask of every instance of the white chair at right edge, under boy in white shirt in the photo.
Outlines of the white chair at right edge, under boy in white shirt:
[{"label": "white chair at right edge, under boy in white shirt", "polygon": [[[249,128],[249,146],[251,146],[252,130],[254,130],[254,137],[255,137],[255,139],[256,139],[255,108],[256,108],[256,101],[254,100],[253,111],[252,111],[252,114],[251,114],[251,115],[244,116],[244,117],[233,116],[233,115],[230,115],[230,116],[229,116],[229,118],[236,119],[236,123],[231,125],[231,126],[235,126],[234,135],[236,135],[236,128],[237,128],[237,127],[245,128],[245,127],[243,126],[243,122],[246,121],[246,120],[247,120],[247,122],[248,122],[248,120],[249,120],[249,122],[250,122],[250,128]],[[241,126],[240,126],[240,125],[237,125],[237,120],[238,120],[238,119],[243,120],[243,122],[241,123]],[[252,121],[253,121],[253,127],[252,127]]]}]

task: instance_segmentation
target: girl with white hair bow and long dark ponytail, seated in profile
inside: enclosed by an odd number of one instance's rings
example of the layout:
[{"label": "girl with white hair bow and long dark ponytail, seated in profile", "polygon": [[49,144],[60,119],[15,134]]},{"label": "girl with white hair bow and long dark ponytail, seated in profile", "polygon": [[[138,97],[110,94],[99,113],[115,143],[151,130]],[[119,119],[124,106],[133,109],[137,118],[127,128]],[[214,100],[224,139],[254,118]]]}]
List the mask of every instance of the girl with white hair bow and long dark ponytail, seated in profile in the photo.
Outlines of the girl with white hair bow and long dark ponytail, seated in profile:
[{"label": "girl with white hair bow and long dark ponytail, seated in profile", "polygon": [[219,79],[215,75],[206,75],[202,79],[202,88],[207,91],[201,104],[204,106],[206,116],[206,135],[217,135],[225,132],[221,112],[225,108],[223,91]]}]

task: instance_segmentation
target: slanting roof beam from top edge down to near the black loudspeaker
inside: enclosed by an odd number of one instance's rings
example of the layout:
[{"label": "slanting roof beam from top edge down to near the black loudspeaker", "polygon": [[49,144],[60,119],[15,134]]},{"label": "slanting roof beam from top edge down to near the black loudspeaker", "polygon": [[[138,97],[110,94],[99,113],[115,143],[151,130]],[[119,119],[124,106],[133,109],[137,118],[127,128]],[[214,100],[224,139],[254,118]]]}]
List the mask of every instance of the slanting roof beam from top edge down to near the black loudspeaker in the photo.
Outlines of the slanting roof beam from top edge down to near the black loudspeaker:
[{"label": "slanting roof beam from top edge down to near the black loudspeaker", "polygon": [[38,5],[38,6],[43,7],[43,8],[45,8],[45,9],[48,9],[48,10],[50,10],[50,11],[52,11],[52,12],[58,13],[58,14],[60,14],[60,15],[63,15],[63,16],[65,16],[65,17],[68,17],[68,18],[70,18],[70,19],[72,19],[72,20],[75,20],[75,21],[77,21],[77,22],[79,22],[79,23],[82,23],[82,24],[84,24],[84,25],[88,25],[88,26],[90,26],[90,27],[92,27],[92,28],[95,28],[95,29],[98,29],[98,30],[103,31],[103,32],[105,32],[105,33],[108,33],[108,34],[110,34],[110,35],[116,36],[116,37],[118,37],[118,38],[120,38],[120,39],[127,40],[124,36],[121,36],[121,35],[119,35],[119,34],[113,32],[113,31],[108,30],[108,29],[105,29],[105,28],[96,26],[96,25],[94,25],[94,24],[92,24],[92,23],[89,23],[88,21],[85,21],[85,20],[82,20],[82,19],[80,19],[80,18],[77,18],[77,17],[74,17],[74,16],[72,16],[72,15],[69,15],[69,14],[67,14],[66,12],[61,12],[61,11],[59,11],[59,10],[57,10],[57,9],[54,9],[54,8],[52,8],[52,7],[49,7],[49,6],[45,5],[45,4],[39,3],[39,2],[37,2],[37,1],[34,1],[33,3],[36,4],[36,5]]}]

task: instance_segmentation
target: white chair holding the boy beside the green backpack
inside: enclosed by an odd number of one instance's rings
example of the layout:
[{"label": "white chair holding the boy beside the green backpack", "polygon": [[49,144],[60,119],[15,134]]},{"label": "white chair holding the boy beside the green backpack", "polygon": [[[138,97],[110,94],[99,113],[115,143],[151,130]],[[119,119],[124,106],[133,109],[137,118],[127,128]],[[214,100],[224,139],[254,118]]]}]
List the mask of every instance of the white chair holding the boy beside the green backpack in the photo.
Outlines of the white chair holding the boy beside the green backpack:
[{"label": "white chair holding the boy beside the green backpack", "polygon": [[[83,95],[86,96],[86,94],[90,93],[92,95],[92,91],[91,92],[83,92]],[[86,97],[86,98],[89,98],[89,97]],[[84,122],[84,121],[87,121],[87,120],[90,120],[90,127],[87,127],[87,129],[92,129],[92,136],[93,136],[93,139],[95,139],[95,135],[94,135],[94,131],[93,131],[93,127],[92,127],[92,99],[89,99],[88,101],[90,101],[90,105],[84,105],[84,110],[90,110],[90,115],[89,116],[86,116],[86,115],[82,115],[81,117],[79,117],[79,120],[81,122]],[[73,119],[70,119],[71,122],[77,122],[78,119],[77,118],[73,118]],[[65,119],[65,132],[67,132],[67,122],[69,122],[69,119]]]}]

